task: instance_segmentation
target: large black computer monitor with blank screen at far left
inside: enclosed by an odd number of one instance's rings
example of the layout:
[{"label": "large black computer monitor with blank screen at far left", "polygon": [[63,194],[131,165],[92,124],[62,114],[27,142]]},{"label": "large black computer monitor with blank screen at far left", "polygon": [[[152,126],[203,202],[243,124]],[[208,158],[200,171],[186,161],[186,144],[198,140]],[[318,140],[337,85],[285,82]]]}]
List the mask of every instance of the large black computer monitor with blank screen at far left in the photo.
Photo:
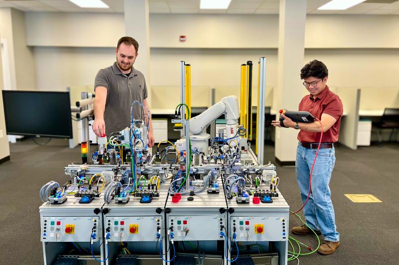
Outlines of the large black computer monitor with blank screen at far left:
[{"label": "large black computer monitor with blank screen at far left", "polygon": [[2,90],[10,135],[72,138],[69,92]]}]

